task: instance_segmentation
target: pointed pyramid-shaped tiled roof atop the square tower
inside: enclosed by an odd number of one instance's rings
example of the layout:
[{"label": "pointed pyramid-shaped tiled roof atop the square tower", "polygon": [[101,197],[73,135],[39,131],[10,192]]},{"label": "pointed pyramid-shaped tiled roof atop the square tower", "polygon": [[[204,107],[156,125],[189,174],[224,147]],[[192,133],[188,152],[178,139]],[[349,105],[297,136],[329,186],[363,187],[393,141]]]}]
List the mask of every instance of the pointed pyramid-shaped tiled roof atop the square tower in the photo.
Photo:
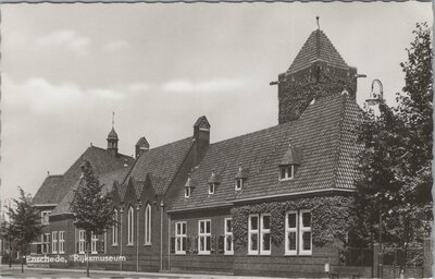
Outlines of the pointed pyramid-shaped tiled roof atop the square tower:
[{"label": "pointed pyramid-shaped tiled roof atop the square tower", "polygon": [[308,37],[287,73],[295,73],[319,60],[333,66],[349,68],[326,35],[321,29],[316,29]]}]

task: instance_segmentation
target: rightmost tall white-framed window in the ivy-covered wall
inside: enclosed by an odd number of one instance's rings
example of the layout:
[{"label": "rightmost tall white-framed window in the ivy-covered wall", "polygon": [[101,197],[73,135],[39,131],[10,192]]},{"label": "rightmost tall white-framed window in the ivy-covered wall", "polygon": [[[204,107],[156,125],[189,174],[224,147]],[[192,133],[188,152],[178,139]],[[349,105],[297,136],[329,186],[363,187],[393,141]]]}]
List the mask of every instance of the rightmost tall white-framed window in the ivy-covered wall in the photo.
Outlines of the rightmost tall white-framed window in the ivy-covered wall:
[{"label": "rightmost tall white-framed window in the ivy-covered wall", "polygon": [[311,255],[311,211],[287,211],[286,214],[286,255]]}]

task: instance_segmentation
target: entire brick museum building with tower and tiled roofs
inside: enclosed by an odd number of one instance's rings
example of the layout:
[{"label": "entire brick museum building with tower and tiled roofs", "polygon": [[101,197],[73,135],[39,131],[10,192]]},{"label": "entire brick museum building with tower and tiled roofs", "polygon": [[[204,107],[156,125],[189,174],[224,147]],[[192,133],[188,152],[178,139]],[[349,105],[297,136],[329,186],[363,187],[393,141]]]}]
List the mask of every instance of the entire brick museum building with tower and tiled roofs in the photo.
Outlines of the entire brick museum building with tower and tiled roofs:
[{"label": "entire brick museum building with tower and tiled roofs", "polygon": [[95,265],[323,277],[325,264],[339,264],[355,191],[356,78],[316,29],[278,75],[275,126],[210,143],[211,124],[200,117],[190,137],[156,148],[139,138],[135,158],[117,153],[112,129],[107,149],[89,147],[42,183],[34,203],[47,226],[32,252],[84,252],[69,205],[87,158],[113,196],[117,220],[95,236],[92,252],[126,257]]}]

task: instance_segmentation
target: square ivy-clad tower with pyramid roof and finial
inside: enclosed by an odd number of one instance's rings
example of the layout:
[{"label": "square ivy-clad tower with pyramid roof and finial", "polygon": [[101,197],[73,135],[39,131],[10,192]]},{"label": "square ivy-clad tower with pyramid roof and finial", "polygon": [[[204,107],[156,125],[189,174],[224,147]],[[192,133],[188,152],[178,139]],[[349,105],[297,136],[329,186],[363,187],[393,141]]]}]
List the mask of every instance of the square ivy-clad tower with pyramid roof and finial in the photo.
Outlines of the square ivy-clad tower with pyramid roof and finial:
[{"label": "square ivy-clad tower with pyramid roof and finial", "polygon": [[278,122],[283,124],[297,120],[310,101],[320,95],[347,89],[356,98],[357,69],[345,62],[319,26],[288,70],[273,84],[278,85]]}]

